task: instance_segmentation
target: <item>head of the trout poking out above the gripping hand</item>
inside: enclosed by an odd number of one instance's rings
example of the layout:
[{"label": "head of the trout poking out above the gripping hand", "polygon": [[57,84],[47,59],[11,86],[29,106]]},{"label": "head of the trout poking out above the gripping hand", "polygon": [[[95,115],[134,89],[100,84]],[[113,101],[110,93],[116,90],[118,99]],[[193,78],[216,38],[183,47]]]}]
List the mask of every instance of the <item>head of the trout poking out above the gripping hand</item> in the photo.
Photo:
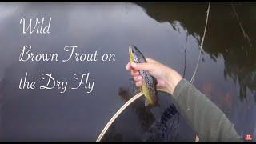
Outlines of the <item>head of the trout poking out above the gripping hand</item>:
[{"label": "head of the trout poking out above the gripping hand", "polygon": [[138,63],[142,58],[145,59],[137,47],[131,45],[128,48],[131,62]]}]

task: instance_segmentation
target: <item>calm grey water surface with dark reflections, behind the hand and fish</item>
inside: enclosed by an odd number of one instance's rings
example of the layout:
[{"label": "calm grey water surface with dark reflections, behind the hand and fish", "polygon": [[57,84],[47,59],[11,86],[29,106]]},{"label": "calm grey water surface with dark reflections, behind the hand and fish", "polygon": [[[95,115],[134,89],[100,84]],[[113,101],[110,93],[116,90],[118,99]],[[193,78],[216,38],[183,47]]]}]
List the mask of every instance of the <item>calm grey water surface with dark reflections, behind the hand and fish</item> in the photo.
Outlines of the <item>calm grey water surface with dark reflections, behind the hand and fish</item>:
[{"label": "calm grey water surface with dark reflections, behind the hand and fish", "polygon": [[[207,3],[1,3],[0,101],[3,140],[95,141],[106,122],[126,102],[128,46],[173,67],[190,80],[198,58]],[[22,34],[20,19],[52,18],[50,34]],[[212,3],[194,85],[226,114],[238,134],[256,134],[256,3]],[[115,62],[19,62],[23,46],[34,53],[115,54]],[[25,76],[37,83],[42,73],[74,82],[90,72],[94,90],[19,90]],[[167,98],[167,97],[162,97]],[[167,102],[167,101],[166,101]],[[135,105],[135,104],[134,104]],[[168,105],[166,104],[166,107]],[[130,109],[133,109],[132,106]],[[143,109],[136,108],[138,110]],[[136,111],[136,110],[135,110]],[[138,113],[126,110],[121,140],[138,140]],[[161,114],[158,112],[158,114]],[[132,116],[135,115],[135,116]],[[136,116],[137,115],[137,116]],[[126,121],[125,121],[126,120]],[[148,119],[144,118],[144,121]],[[154,120],[152,120],[153,122]],[[181,120],[180,135],[193,139]],[[121,132],[120,132],[121,133]],[[124,138],[125,137],[125,138]]]}]

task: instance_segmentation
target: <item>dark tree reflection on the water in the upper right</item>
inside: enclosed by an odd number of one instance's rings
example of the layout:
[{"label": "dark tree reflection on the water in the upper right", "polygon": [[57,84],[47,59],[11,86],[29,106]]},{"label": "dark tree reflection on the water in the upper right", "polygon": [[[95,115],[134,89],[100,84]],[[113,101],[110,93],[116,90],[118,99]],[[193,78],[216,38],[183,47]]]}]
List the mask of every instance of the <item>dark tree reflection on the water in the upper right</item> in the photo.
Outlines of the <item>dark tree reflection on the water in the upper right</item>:
[{"label": "dark tree reflection on the water in the upper right", "polygon": [[[139,4],[158,22],[181,22],[189,34],[202,36],[206,4]],[[224,75],[233,78],[240,86],[240,99],[246,98],[246,89],[256,90],[256,19],[255,3],[217,3],[211,6],[204,50],[214,61],[223,56]],[[219,14],[222,13],[220,16]],[[240,14],[240,16],[239,16]],[[194,17],[194,16],[197,17]],[[200,38],[198,38],[199,40]],[[254,41],[252,41],[252,40]],[[256,102],[256,98],[254,97]]]}]

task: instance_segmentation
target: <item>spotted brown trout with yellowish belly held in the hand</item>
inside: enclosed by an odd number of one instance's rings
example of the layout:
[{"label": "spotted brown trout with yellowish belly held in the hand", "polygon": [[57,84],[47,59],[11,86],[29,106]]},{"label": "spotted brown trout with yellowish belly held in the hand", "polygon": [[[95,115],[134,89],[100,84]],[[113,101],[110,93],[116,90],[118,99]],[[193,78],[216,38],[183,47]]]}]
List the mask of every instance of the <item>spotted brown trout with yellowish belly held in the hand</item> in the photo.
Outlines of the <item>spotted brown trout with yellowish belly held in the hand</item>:
[{"label": "spotted brown trout with yellowish belly held in the hand", "polygon": [[[130,62],[144,63],[146,58],[135,46],[129,46]],[[158,106],[158,96],[156,89],[156,79],[152,77],[146,70],[138,70],[142,75],[141,91],[146,97],[145,106]]]}]

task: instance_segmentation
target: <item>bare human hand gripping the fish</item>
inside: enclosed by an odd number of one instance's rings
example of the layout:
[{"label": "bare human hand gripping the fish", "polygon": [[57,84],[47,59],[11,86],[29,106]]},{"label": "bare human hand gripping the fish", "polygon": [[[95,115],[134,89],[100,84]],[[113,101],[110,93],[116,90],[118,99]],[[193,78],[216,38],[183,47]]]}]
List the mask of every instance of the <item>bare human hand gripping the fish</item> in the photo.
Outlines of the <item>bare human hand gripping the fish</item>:
[{"label": "bare human hand gripping the fish", "polygon": [[142,75],[139,74],[138,70],[147,70],[157,79],[157,86],[162,86],[170,94],[173,94],[178,82],[182,80],[182,76],[177,71],[154,59],[146,58],[146,61],[146,63],[128,62],[126,65],[126,70],[129,70],[134,77],[136,86],[142,86]]}]

